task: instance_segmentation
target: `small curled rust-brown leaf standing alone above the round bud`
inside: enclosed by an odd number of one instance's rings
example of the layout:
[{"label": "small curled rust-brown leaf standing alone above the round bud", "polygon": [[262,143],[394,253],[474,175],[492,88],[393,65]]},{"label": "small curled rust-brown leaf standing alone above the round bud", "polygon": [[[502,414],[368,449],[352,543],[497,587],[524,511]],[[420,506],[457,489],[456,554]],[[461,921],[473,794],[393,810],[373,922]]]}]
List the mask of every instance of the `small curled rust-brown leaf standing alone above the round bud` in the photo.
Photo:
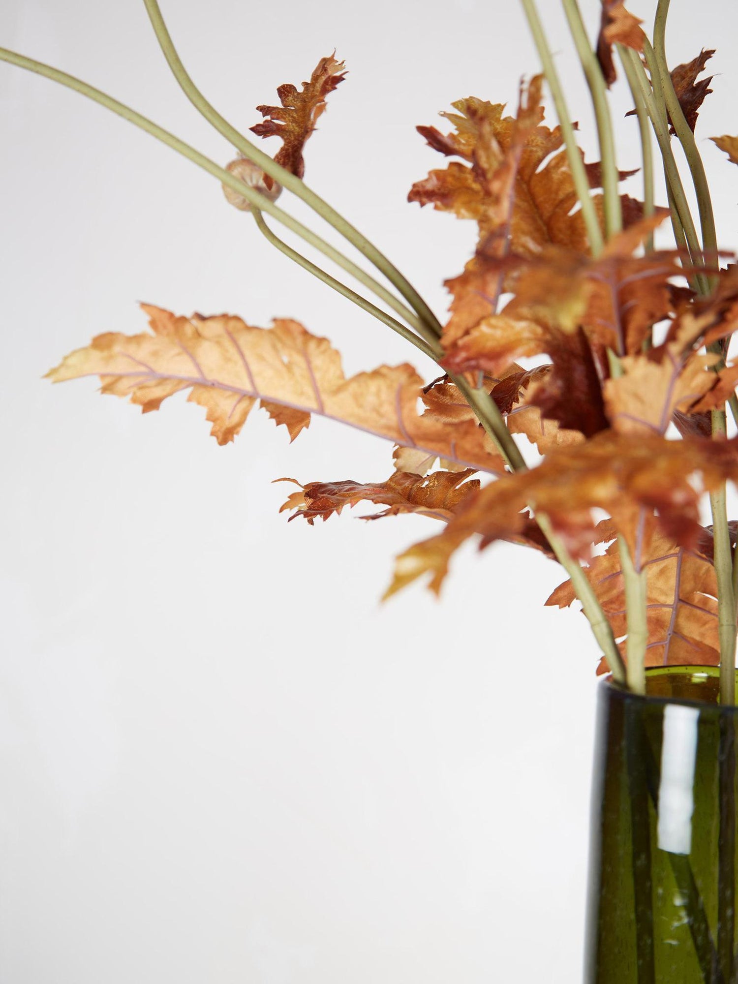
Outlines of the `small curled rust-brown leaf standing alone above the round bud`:
[{"label": "small curled rust-brown leaf standing alone above the round bud", "polygon": [[329,92],[336,89],[345,75],[343,62],[337,61],[334,55],[321,58],[310,82],[303,82],[302,92],[285,84],[277,89],[280,106],[256,107],[267,118],[252,126],[251,132],[258,137],[279,137],[282,146],[275,160],[298,178],[305,173],[302,157],[305,141],[315,130],[315,124],[326,108]]}]

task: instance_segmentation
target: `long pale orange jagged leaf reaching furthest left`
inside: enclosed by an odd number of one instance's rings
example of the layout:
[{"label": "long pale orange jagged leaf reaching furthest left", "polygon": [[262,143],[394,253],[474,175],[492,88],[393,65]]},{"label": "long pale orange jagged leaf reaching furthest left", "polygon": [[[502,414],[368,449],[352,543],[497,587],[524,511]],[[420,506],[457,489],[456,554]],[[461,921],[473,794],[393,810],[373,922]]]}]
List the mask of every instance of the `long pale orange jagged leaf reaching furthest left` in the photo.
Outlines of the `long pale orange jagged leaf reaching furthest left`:
[{"label": "long pale orange jagged leaf reaching furthest left", "polygon": [[144,412],[189,390],[205,406],[218,444],[232,441],[256,400],[290,437],[317,413],[462,467],[499,472],[504,464],[472,420],[454,427],[418,415],[422,380],[406,363],[346,379],[338,351],[295,321],[253,328],[220,315],[175,317],[145,305],[153,334],[92,339],[48,373],[54,382],[96,375],[102,392],[130,397]]}]

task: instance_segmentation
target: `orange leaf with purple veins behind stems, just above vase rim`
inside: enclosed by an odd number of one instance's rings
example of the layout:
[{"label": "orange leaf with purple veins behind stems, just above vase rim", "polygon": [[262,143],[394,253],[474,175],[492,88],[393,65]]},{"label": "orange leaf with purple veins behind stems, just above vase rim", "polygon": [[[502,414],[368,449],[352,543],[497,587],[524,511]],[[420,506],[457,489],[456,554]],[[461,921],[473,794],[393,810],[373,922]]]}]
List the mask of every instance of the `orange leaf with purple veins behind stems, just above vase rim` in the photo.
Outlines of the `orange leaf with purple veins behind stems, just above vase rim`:
[{"label": "orange leaf with purple veins behind stems, just above vase rim", "polygon": [[[615,535],[609,520],[599,524],[597,541],[612,539],[613,542],[585,570],[618,639],[627,634],[628,627],[625,584]],[[641,539],[640,567],[646,572],[646,666],[716,665],[719,662],[717,581],[710,559],[700,550],[680,547],[656,527],[652,517],[647,520],[645,517]],[[707,541],[711,549],[711,535],[702,530],[700,546]],[[546,604],[563,608],[574,600],[574,588],[567,581],[556,588]],[[603,659],[598,672],[607,669]]]}]

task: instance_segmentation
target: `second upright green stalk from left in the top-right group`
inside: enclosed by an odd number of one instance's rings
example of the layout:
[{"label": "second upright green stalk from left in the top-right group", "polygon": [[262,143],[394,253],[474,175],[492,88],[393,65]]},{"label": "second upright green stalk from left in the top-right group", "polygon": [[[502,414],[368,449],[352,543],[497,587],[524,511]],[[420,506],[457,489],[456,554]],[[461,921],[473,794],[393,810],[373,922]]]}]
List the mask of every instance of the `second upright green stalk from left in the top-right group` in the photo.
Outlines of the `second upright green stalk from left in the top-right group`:
[{"label": "second upright green stalk from left in the top-right group", "polygon": [[599,156],[602,166],[602,189],[604,191],[605,235],[609,239],[623,228],[623,210],[620,206],[620,192],[618,191],[618,165],[610,107],[607,103],[607,88],[597,57],[586,36],[586,29],[577,0],[562,0],[562,3],[569,22],[569,30],[572,32],[577,53],[582,62],[586,84],[589,87],[594,108],[594,118],[597,123]]}]

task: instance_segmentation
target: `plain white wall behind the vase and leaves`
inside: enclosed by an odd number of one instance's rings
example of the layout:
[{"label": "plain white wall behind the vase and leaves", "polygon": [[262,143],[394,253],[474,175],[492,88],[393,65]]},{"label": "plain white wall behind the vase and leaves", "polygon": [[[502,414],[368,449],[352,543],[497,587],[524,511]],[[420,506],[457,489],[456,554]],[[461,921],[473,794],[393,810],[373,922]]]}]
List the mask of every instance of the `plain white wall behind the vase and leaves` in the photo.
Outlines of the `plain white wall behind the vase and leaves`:
[{"label": "plain white wall behind the vase and leaves", "polygon": [[[541,6],[592,159],[558,4]],[[673,7],[672,63],[718,48],[698,136],[720,240],[736,246],[738,172],[705,138],[738,131],[738,9]],[[337,48],[350,75],[307,178],[443,314],[474,227],[405,203],[443,165],[414,126],[469,94],[515,103],[538,66],[518,4],[163,13],[244,129]],[[135,0],[4,0],[0,43],[233,155]],[[622,167],[639,162],[627,108],[616,95]],[[598,655],[581,615],[542,607],[554,565],[469,549],[440,603],[416,585],[380,606],[393,555],[433,521],[287,525],[288,489],[271,480],[383,480],[389,446],[316,419],[290,447],[254,411],[218,448],[182,398],[144,417],[92,380],[41,379],[95,334],[142,331],[137,300],[298,318],[347,372],[432,367],[270,251],[213,178],[5,65],[0,165],[3,984],[578,980]]]}]

